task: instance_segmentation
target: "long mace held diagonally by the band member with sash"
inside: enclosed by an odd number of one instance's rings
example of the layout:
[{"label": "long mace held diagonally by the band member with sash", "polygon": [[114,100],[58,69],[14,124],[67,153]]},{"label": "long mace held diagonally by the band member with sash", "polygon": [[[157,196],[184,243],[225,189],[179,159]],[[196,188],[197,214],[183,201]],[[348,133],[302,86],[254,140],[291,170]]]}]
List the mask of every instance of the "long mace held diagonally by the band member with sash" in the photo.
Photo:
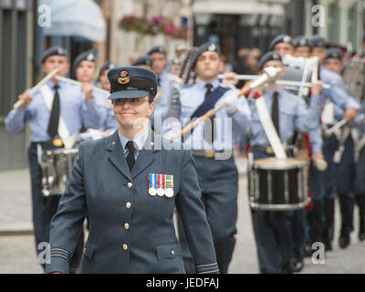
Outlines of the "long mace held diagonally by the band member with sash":
[{"label": "long mace held diagonally by the band member with sash", "polygon": [[[265,71],[264,74],[262,74],[261,76],[259,76],[258,78],[256,78],[253,82],[245,85],[240,90],[240,92],[237,94],[237,99],[240,98],[243,95],[246,95],[246,94],[250,93],[250,91],[252,89],[255,89],[255,88],[260,87],[261,85],[263,85],[264,83],[266,83],[266,81],[268,81],[270,78],[275,78],[280,71],[281,71],[281,68],[266,68],[266,71]],[[178,137],[183,136],[183,134],[186,133],[187,131],[193,130],[203,120],[206,120],[206,119],[209,119],[209,118],[213,117],[214,114],[217,111],[222,110],[225,106],[226,106],[226,103],[224,102],[218,108],[214,108],[212,110],[208,110],[205,114],[203,114],[203,116],[199,117],[198,119],[196,119],[193,122],[191,122],[188,125],[186,125],[183,128],[183,130],[181,130],[177,135],[175,135],[172,138],[170,138],[170,140],[172,141],[172,140],[174,140],[174,139],[176,139]]]}]

